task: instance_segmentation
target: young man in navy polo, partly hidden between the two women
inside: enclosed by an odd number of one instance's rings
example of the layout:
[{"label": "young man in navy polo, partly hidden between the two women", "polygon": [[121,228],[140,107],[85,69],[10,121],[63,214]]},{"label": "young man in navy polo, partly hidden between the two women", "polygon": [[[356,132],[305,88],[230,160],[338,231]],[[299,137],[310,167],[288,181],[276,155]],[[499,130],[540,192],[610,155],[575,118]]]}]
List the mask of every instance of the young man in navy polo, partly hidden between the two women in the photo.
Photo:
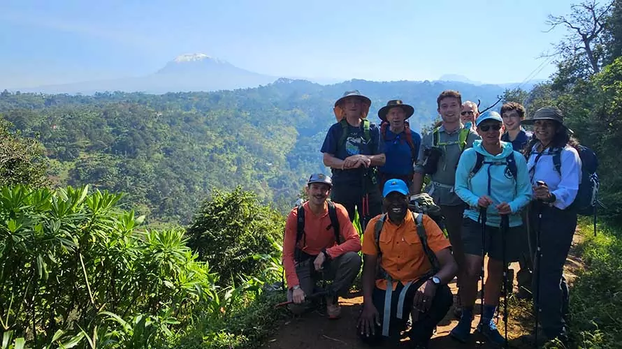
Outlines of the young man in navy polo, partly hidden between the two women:
[{"label": "young man in navy polo, partly hidden between the two women", "polygon": [[[501,118],[505,133],[501,136],[503,142],[512,143],[514,150],[522,152],[523,148],[529,142],[532,134],[525,131],[521,127],[521,121],[525,119],[525,107],[521,103],[508,102],[501,106]],[[523,224],[526,224],[526,210],[521,213]],[[529,252],[529,242],[527,235],[521,241],[521,253],[519,254],[519,265],[521,269],[516,273],[516,281],[519,283],[518,298],[530,298],[531,296],[531,272],[533,270],[533,261]]]}]

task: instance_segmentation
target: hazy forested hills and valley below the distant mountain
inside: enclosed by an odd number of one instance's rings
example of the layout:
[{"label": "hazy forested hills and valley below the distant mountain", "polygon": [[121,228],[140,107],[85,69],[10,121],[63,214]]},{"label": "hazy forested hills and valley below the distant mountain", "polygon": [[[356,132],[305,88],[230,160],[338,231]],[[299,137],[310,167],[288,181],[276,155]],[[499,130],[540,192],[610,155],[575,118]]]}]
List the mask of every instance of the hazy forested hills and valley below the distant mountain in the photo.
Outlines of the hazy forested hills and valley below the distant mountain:
[{"label": "hazy forested hills and valley below the distant mountain", "polygon": [[465,100],[497,101],[502,89],[441,82],[352,80],[322,86],[278,80],[265,87],[164,95],[0,94],[0,114],[38,137],[52,181],[126,193],[122,202],[147,221],[187,223],[212,188],[237,185],[282,212],[310,172],[326,171],[319,149],[335,121],[333,103],[359,89],[373,100],[369,118],[392,98],[416,108],[419,131],[436,116],[436,98],[458,89]]}]

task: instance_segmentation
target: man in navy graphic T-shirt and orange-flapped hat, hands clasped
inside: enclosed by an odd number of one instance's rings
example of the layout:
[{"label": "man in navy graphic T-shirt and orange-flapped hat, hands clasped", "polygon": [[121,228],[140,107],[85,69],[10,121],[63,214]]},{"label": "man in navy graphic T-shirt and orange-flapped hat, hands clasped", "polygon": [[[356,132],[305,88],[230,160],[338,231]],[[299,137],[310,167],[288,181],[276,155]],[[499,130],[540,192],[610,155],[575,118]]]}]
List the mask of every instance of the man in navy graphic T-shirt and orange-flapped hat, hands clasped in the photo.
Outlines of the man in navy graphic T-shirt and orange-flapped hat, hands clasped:
[{"label": "man in navy graphic T-shirt and orange-flapped hat, hands clasped", "polygon": [[377,166],[384,165],[380,131],[367,119],[370,98],[359,91],[346,91],[334,105],[337,122],[328,129],[321,152],[332,170],[331,200],[343,205],[354,220],[354,207],[365,222],[382,212],[377,185]]}]

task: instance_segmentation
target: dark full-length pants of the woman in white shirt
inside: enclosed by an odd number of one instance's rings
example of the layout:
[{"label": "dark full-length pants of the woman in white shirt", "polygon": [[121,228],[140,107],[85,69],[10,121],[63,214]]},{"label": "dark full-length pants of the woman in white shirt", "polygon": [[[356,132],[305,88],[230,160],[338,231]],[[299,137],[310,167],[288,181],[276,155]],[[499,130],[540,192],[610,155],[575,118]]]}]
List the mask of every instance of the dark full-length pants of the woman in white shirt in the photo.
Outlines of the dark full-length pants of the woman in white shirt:
[{"label": "dark full-length pants of the woman in white shirt", "polygon": [[[530,243],[536,252],[536,234],[538,229],[537,203],[530,207]],[[565,317],[568,312],[568,285],[563,277],[563,268],[572,244],[572,236],[577,228],[577,213],[567,209],[558,209],[542,205],[540,222],[540,248],[542,259],[534,263],[533,286],[534,306],[537,292],[540,292],[540,324],[542,332],[548,338],[567,336]],[[540,273],[540,275],[538,275]],[[540,279],[540,285],[537,284]]]}]

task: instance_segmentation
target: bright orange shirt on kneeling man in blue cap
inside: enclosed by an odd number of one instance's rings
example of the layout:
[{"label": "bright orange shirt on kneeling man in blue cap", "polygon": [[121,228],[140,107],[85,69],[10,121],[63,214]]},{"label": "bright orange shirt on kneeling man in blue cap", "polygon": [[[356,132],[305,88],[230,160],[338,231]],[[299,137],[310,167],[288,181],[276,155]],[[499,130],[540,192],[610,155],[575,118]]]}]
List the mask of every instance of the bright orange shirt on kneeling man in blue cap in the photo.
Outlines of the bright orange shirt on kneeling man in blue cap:
[{"label": "bright orange shirt on kneeling man in blue cap", "polygon": [[[377,255],[376,239],[374,230],[376,222],[382,217],[376,216],[367,224],[365,235],[363,235],[363,253],[366,255]],[[428,246],[433,252],[441,251],[443,248],[451,246],[447,237],[435,221],[427,215],[423,218],[426,235],[428,235]],[[402,224],[395,225],[387,217],[382,225],[379,239],[382,257],[380,265],[391,279],[398,280],[402,284],[410,281],[417,281],[426,274],[432,265],[421,244],[421,239],[417,235],[417,223],[413,220],[410,211]],[[386,290],[386,280],[376,280],[376,287]],[[393,290],[397,283],[393,283]]]}]

